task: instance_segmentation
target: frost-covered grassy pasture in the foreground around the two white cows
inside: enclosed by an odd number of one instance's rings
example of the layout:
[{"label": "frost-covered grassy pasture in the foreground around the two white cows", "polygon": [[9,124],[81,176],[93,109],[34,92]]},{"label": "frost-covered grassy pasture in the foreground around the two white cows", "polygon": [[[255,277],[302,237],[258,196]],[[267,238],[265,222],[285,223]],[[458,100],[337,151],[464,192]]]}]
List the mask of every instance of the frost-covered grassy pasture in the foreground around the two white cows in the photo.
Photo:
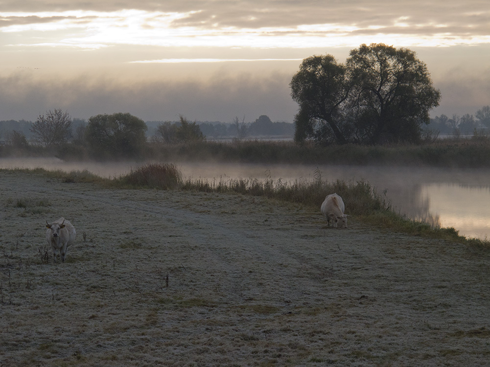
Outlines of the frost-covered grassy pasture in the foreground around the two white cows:
[{"label": "frost-covered grassy pasture in the foreground around the two white cows", "polygon": [[486,251],[251,196],[5,172],[0,194],[1,367],[488,366]]}]

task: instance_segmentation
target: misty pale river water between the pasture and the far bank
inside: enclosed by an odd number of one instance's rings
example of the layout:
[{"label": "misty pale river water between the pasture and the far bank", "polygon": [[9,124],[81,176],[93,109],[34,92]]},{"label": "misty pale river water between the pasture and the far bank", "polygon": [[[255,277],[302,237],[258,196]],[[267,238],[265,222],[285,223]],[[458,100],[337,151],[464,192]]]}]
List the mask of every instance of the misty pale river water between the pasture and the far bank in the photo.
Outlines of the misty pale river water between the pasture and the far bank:
[{"label": "misty pale river water between the pasture and the far bank", "polygon": [[[57,158],[5,159],[0,168],[88,170],[100,177],[128,173],[137,162],[79,162]],[[367,181],[385,195],[396,212],[442,227],[454,227],[460,235],[485,239],[490,236],[490,170],[434,167],[327,166],[284,164],[191,163],[176,164],[184,179],[272,179],[274,182],[322,180]],[[329,193],[325,193],[327,195]],[[342,193],[338,193],[342,196]],[[321,203],[319,203],[320,206]],[[346,208],[348,211],[348,208]]]}]

